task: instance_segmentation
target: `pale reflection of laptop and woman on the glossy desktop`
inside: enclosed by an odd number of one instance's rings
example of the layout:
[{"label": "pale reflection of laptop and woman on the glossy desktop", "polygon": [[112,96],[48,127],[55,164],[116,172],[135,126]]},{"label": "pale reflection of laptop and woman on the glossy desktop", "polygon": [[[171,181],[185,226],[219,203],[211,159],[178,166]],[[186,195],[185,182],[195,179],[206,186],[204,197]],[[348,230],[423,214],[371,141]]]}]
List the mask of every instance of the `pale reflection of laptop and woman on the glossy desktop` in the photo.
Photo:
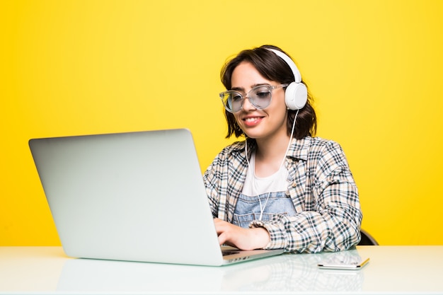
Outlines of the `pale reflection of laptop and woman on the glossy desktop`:
[{"label": "pale reflection of laptop and woman on the glossy desktop", "polygon": [[363,272],[319,271],[318,255],[297,256],[280,255],[226,267],[74,259],[64,264],[57,290],[213,293],[362,289]]}]

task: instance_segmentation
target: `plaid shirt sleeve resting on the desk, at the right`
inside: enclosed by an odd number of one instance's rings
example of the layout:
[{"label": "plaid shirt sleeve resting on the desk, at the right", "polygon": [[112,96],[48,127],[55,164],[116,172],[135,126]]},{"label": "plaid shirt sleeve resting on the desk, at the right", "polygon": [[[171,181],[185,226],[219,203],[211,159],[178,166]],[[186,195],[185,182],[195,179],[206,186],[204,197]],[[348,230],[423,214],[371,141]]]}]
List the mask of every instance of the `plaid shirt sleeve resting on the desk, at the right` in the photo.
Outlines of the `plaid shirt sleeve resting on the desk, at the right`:
[{"label": "plaid shirt sleeve resting on the desk, at the right", "polygon": [[253,221],[251,227],[269,231],[267,249],[284,248],[296,253],[339,251],[360,240],[362,212],[357,185],[340,145],[328,141],[318,151],[311,151],[309,157],[306,165],[312,175],[304,193],[313,197],[313,210]]}]

